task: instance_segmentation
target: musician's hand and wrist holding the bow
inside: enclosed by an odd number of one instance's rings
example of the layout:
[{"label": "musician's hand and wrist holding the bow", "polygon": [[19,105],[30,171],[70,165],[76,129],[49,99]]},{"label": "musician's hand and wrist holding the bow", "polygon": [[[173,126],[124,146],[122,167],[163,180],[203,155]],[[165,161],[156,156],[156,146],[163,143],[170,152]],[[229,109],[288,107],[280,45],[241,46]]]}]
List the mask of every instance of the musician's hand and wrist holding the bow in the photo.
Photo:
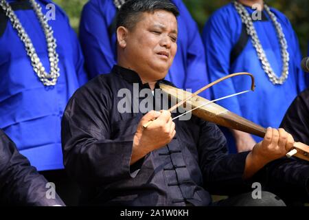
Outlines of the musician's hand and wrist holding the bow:
[{"label": "musician's hand and wrist holding the bow", "polygon": [[[150,120],[154,121],[147,129],[144,129],[143,124],[146,124]],[[130,165],[134,164],[151,151],[155,151],[170,143],[175,134],[175,123],[172,122],[170,111],[161,110],[161,112],[148,112],[141,118],[137,125],[137,131],[133,139]]]}]

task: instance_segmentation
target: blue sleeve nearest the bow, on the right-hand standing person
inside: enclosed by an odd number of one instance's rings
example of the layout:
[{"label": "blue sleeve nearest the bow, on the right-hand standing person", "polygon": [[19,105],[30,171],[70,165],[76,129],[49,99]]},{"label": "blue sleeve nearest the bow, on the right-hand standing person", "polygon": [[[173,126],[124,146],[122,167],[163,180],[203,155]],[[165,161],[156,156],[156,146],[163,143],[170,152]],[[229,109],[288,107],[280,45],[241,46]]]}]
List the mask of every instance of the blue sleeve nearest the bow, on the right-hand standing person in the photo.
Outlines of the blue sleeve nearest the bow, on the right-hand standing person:
[{"label": "blue sleeve nearest the bow, on the right-hand standing person", "polygon": [[[229,75],[230,52],[233,47],[231,31],[229,31],[230,25],[229,21],[222,17],[222,13],[216,13],[207,21],[203,30],[202,38],[210,81]],[[211,92],[212,98],[220,98],[236,93],[236,88],[233,85],[233,80],[227,79],[211,87]],[[237,97],[217,103],[242,116]]]}]

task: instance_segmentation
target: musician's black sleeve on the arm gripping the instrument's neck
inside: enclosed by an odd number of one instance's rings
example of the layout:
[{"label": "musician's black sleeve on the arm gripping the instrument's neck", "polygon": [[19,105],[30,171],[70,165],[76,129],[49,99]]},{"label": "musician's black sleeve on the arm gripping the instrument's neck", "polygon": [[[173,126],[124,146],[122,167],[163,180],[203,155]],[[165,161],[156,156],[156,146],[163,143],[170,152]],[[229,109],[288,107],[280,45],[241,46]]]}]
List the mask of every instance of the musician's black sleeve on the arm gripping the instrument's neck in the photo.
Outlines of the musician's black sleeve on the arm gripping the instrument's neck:
[{"label": "musician's black sleeve on the arm gripping the instrument's neck", "polygon": [[227,142],[216,124],[202,122],[198,143],[205,188],[217,195],[232,195],[249,190],[242,175],[249,152],[229,154]]}]

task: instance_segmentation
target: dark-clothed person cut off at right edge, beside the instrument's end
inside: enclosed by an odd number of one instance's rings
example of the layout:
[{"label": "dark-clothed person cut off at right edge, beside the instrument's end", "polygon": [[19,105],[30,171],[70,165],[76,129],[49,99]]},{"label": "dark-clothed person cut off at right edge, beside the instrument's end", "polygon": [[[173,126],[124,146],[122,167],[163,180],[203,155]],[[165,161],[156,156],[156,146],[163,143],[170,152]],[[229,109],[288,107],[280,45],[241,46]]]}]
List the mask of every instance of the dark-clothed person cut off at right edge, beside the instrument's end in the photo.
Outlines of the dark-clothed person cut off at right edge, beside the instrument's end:
[{"label": "dark-clothed person cut off at right edge, beside the instrument's end", "polygon": [[[301,94],[295,98],[288,108],[288,111],[286,111],[286,115],[284,115],[280,127],[293,135],[296,142],[303,142],[309,145],[309,88],[301,92]],[[286,163],[294,165],[290,166],[290,168],[278,166],[278,164]],[[282,158],[269,164],[269,166],[277,167],[275,173],[269,169],[269,176],[273,181],[279,181],[279,179],[282,179],[282,176],[285,177],[286,181],[277,186],[275,184],[266,184],[266,190],[275,192],[276,195],[284,199],[287,205],[303,206],[304,203],[309,202],[309,181],[304,181],[306,190],[304,190],[304,187],[299,187],[299,182],[301,182],[299,179],[308,179],[309,162],[298,158]],[[297,179],[297,181],[295,181],[295,179]],[[290,190],[286,190],[286,188]]]}]

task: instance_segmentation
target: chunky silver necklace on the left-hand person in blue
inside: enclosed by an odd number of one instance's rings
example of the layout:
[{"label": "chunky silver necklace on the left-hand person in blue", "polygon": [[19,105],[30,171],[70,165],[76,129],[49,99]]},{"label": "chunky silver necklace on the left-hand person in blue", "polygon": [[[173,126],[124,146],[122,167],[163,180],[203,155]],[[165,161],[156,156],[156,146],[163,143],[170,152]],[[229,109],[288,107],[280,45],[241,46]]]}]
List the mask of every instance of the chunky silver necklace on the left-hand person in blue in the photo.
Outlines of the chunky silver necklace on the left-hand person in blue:
[{"label": "chunky silver necklace on the left-hand person in blue", "polygon": [[28,36],[27,32],[25,32],[25,29],[21,25],[19,19],[16,17],[16,14],[14,13],[14,10],[12,10],[12,7],[5,0],[0,0],[0,6],[4,10],[5,16],[10,19],[13,28],[17,31],[19,35],[19,38],[21,39],[21,41],[23,41],[27,55],[30,57],[32,67],[34,69],[34,72],[36,72],[36,74],[38,75],[38,78],[45,86],[56,85],[57,79],[60,76],[60,69],[58,67],[59,59],[56,52],[56,39],[54,39],[52,28],[47,23],[47,18],[42,13],[41,5],[36,3],[35,0],[29,1],[34,9],[34,12],[36,13],[36,17],[38,17],[38,21],[40,21],[41,23],[41,27],[43,28],[45,34],[50,63],[50,74],[45,72],[45,68],[41,63],[40,58],[38,58],[38,54],[36,54],[36,50],[34,48],[34,45],[32,44],[30,37]]}]

